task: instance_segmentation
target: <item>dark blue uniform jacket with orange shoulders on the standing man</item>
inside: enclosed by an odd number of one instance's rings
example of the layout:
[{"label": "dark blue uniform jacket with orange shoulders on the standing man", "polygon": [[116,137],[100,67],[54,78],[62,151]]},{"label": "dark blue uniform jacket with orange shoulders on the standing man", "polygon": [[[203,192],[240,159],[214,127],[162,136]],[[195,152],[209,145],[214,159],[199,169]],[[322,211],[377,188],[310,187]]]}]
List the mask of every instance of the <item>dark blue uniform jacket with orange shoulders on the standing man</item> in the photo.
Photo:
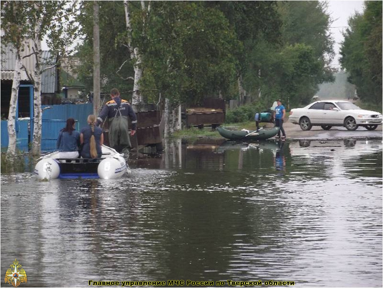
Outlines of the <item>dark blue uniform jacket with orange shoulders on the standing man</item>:
[{"label": "dark blue uniform jacket with orange shoulders on the standing man", "polygon": [[100,115],[97,117],[97,126],[101,123],[104,123],[106,118],[113,119],[117,115],[119,116],[119,111],[121,116],[128,116],[132,123],[132,130],[137,130],[137,116],[134,113],[132,106],[129,105],[128,101],[115,97],[114,99],[106,102],[102,108]]}]

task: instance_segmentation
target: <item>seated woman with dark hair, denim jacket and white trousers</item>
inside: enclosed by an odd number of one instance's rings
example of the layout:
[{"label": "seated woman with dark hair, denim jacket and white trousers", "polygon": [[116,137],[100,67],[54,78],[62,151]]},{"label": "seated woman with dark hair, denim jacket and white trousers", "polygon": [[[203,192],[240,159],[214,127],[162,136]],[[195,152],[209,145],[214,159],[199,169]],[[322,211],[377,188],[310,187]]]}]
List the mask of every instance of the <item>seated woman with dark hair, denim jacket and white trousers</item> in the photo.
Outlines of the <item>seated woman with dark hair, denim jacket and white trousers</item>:
[{"label": "seated woman with dark hair, denim jacket and white trousers", "polygon": [[60,151],[57,158],[79,157],[80,133],[75,129],[73,118],[67,119],[65,128],[62,128],[57,137],[56,148]]}]

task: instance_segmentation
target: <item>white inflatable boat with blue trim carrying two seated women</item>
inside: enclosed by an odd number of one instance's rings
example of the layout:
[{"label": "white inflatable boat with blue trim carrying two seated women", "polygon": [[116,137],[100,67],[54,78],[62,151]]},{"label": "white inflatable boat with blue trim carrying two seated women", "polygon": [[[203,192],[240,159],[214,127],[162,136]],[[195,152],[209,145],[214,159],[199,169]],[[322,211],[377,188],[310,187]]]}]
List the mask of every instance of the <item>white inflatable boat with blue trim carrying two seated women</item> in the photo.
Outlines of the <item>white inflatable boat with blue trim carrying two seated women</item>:
[{"label": "white inflatable boat with blue trim carrying two seated women", "polygon": [[59,151],[44,155],[34,167],[39,179],[119,178],[128,171],[126,160],[115,149],[103,145],[101,158],[57,158]]}]

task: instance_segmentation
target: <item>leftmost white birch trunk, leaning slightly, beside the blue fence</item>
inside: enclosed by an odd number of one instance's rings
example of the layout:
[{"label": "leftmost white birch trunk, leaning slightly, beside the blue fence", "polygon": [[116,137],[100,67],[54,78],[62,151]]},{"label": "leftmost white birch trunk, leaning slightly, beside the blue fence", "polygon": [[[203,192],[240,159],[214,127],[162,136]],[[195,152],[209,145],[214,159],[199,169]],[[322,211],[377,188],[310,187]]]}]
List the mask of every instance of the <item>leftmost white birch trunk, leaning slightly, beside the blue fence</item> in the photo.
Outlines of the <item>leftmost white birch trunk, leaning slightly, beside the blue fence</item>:
[{"label": "leftmost white birch trunk, leaning slightly, beside the blue fence", "polygon": [[11,100],[9,103],[9,113],[8,113],[8,150],[7,153],[10,155],[15,155],[16,152],[16,105],[18,101],[19,86],[21,80],[21,71],[23,70],[23,61],[20,57],[20,51],[16,51],[16,65],[15,71],[13,72],[13,82],[12,82],[12,91],[11,91]]}]

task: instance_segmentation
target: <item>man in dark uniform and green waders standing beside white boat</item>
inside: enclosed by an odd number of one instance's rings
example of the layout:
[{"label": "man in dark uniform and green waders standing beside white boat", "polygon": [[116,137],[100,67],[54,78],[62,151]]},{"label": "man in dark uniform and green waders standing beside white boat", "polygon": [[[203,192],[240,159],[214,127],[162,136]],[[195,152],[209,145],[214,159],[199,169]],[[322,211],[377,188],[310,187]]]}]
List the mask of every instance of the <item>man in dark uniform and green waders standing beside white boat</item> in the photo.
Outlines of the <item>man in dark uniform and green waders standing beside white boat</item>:
[{"label": "man in dark uniform and green waders standing beside white boat", "polygon": [[132,123],[130,135],[133,136],[137,128],[137,116],[128,101],[120,98],[120,93],[117,88],[113,88],[110,91],[110,97],[112,100],[106,102],[100,115],[97,117],[97,126],[103,124],[106,118],[108,118],[109,145],[117,152],[127,156],[129,155],[129,148],[131,148],[128,117]]}]

